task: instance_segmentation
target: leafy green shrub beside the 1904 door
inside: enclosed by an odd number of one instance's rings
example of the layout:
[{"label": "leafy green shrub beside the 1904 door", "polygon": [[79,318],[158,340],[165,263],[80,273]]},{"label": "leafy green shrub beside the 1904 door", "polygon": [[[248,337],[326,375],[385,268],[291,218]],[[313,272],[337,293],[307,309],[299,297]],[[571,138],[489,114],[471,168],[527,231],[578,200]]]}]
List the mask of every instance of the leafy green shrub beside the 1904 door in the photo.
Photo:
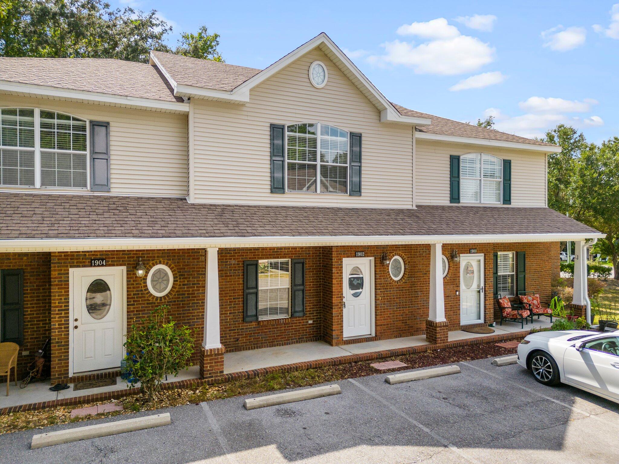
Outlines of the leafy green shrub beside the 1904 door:
[{"label": "leafy green shrub beside the 1904 door", "polygon": [[132,387],[140,382],[140,390],[149,401],[161,389],[167,374],[176,376],[191,365],[194,352],[191,329],[176,327],[167,315],[169,309],[165,304],[158,306],[141,325],[133,324],[124,343],[127,356],[123,371]]}]

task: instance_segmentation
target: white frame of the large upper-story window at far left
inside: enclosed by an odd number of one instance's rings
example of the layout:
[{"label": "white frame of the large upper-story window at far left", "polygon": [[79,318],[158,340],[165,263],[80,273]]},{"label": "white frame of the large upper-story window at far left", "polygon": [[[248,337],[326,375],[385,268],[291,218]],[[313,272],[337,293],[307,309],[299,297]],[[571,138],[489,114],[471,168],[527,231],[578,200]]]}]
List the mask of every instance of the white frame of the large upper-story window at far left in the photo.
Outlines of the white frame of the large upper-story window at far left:
[{"label": "white frame of the large upper-story window at far left", "polygon": [[[90,119],[83,118],[82,116],[76,116],[75,114],[65,113],[64,111],[58,110],[50,110],[48,108],[38,108],[35,106],[20,106],[20,105],[11,105],[11,106],[0,106],[0,109],[12,109],[12,108],[23,108],[24,110],[34,110],[35,111],[35,185],[32,186],[10,186],[10,185],[2,185],[0,184],[0,189],[52,189],[52,190],[70,190],[70,191],[90,191]],[[85,187],[54,187],[54,186],[41,186],[41,110],[43,111],[53,111],[54,113],[66,114],[67,116],[72,116],[73,118],[82,119],[82,121],[86,121],[86,186]],[[19,149],[19,150],[32,150],[32,148],[20,148],[20,147],[4,147],[1,148],[9,148],[9,149]],[[84,153],[84,152],[76,152],[74,150],[51,150],[44,148],[44,152],[54,152],[54,153]]]}]

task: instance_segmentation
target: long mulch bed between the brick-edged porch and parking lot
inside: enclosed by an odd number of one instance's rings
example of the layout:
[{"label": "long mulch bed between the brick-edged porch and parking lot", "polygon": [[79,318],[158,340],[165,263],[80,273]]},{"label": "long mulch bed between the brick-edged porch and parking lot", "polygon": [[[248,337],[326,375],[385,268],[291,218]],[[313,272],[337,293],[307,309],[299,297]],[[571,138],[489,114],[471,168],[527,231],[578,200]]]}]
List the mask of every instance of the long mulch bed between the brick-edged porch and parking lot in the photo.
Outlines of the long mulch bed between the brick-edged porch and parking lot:
[{"label": "long mulch bed between the brick-edged porch and parking lot", "polygon": [[[383,358],[381,361],[400,361],[407,364],[403,367],[379,371],[371,366],[376,360],[357,361],[355,363],[339,364],[337,366],[316,367],[304,371],[272,372],[265,376],[252,377],[249,379],[232,380],[214,385],[202,385],[186,389],[162,390],[152,402],[147,402],[142,395],[130,395],[118,402],[116,400],[106,402],[93,402],[80,405],[80,408],[89,406],[110,405],[111,403],[122,404],[122,411],[111,411],[97,414],[96,416],[82,416],[71,418],[71,411],[75,406],[57,406],[56,408],[21,411],[0,416],[0,434],[17,432],[28,429],[41,429],[53,424],[66,424],[84,421],[94,418],[126,415],[137,411],[157,410],[170,406],[199,404],[203,401],[219,400],[254,393],[272,392],[275,390],[309,387],[325,382],[355,377],[373,376],[382,372],[406,371],[419,367],[437,366],[439,364],[458,363],[460,361],[472,361],[474,359],[494,358],[506,354],[516,353],[516,348],[504,348],[496,343],[480,343],[478,345],[465,345],[456,348],[441,348],[440,350],[423,351],[422,353],[403,354]],[[106,408],[97,408],[97,410]]]}]

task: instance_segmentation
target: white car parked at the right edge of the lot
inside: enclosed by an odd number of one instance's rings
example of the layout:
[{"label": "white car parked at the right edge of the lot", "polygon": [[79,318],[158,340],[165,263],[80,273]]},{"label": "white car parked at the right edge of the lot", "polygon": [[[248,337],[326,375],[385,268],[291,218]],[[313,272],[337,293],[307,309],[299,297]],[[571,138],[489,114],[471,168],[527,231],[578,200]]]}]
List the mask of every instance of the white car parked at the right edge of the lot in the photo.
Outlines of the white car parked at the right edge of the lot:
[{"label": "white car parked at the right edge of the lot", "polygon": [[544,385],[572,385],[619,403],[619,332],[536,332],[518,345],[518,364]]}]

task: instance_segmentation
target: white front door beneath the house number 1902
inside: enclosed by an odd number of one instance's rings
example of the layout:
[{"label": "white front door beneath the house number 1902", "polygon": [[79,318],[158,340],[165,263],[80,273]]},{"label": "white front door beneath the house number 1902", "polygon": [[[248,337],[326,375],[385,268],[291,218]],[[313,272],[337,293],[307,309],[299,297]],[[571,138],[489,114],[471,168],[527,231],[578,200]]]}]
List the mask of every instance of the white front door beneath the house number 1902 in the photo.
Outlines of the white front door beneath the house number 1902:
[{"label": "white front door beneath the house number 1902", "polygon": [[344,259],[344,338],[372,333],[371,258]]}]

